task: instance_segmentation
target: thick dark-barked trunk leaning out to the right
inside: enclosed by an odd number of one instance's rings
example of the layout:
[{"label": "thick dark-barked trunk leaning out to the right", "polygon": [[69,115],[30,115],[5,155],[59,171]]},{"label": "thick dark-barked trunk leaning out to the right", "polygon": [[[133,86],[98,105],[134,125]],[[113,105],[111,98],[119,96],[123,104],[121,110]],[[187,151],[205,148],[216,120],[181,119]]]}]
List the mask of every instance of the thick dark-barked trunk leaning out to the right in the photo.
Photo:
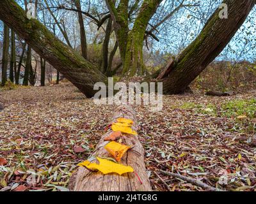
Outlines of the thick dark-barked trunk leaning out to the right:
[{"label": "thick dark-barked trunk leaning out to the right", "polygon": [[220,18],[221,9],[218,8],[193,43],[177,59],[171,59],[160,73],[158,79],[163,82],[164,94],[179,94],[186,90],[236,34],[255,0],[225,0],[223,3],[228,6],[228,18]]}]

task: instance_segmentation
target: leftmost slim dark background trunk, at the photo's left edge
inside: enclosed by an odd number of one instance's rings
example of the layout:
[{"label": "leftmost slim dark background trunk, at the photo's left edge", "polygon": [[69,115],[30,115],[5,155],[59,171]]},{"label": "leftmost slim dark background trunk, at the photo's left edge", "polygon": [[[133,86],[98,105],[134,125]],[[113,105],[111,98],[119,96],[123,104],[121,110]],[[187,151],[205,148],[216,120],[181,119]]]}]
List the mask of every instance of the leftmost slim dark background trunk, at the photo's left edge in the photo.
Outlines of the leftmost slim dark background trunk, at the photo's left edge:
[{"label": "leftmost slim dark background trunk, at the photo's left edge", "polygon": [[3,40],[3,58],[2,58],[2,83],[4,86],[7,81],[8,54],[10,44],[10,29],[4,24],[4,40]]}]

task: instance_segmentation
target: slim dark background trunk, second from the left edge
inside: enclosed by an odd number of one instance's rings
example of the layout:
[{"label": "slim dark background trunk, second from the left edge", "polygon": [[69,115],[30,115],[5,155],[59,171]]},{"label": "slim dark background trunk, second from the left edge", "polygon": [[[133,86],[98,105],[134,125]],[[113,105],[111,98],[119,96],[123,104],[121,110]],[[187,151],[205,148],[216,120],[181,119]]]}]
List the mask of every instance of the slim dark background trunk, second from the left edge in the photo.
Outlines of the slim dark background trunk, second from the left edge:
[{"label": "slim dark background trunk, second from the left edge", "polygon": [[14,78],[17,77],[16,68],[16,50],[15,50],[15,33],[12,30],[11,34],[11,59],[10,59],[10,81],[14,82]]}]

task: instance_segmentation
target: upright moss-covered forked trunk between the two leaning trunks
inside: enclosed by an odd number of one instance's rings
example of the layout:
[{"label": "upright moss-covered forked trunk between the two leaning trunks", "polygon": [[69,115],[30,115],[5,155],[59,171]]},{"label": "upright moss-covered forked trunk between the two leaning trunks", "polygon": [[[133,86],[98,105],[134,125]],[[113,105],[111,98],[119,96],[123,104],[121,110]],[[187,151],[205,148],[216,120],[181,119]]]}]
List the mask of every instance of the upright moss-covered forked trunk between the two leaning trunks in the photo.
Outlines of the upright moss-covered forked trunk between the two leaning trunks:
[{"label": "upright moss-covered forked trunk between the two leaning trunks", "polygon": [[163,0],[144,0],[132,30],[129,31],[129,1],[121,0],[118,7],[115,8],[115,4],[112,0],[106,0],[113,20],[113,27],[118,41],[121,59],[124,64],[122,72],[123,76],[133,77],[134,75],[142,75],[145,71],[145,65],[143,63],[143,41],[145,31],[150,18],[156,12],[161,1]]}]

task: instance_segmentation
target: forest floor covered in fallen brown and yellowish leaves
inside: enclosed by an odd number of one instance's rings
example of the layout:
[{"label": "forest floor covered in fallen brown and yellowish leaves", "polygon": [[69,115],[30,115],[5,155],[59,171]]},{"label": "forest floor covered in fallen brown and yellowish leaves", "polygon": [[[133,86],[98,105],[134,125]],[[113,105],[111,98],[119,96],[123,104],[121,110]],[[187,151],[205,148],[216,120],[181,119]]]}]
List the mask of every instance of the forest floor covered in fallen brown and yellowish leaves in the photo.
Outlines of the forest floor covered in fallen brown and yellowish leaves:
[{"label": "forest floor covered in fallen brown and yellowish leaves", "polygon": [[[116,108],[97,106],[76,90],[60,84],[0,91],[0,191],[67,190]],[[135,106],[152,189],[168,190],[156,171],[172,191],[205,190],[159,171],[166,170],[227,191],[255,191],[255,98],[256,91],[189,94],[164,96],[162,112]]]}]

